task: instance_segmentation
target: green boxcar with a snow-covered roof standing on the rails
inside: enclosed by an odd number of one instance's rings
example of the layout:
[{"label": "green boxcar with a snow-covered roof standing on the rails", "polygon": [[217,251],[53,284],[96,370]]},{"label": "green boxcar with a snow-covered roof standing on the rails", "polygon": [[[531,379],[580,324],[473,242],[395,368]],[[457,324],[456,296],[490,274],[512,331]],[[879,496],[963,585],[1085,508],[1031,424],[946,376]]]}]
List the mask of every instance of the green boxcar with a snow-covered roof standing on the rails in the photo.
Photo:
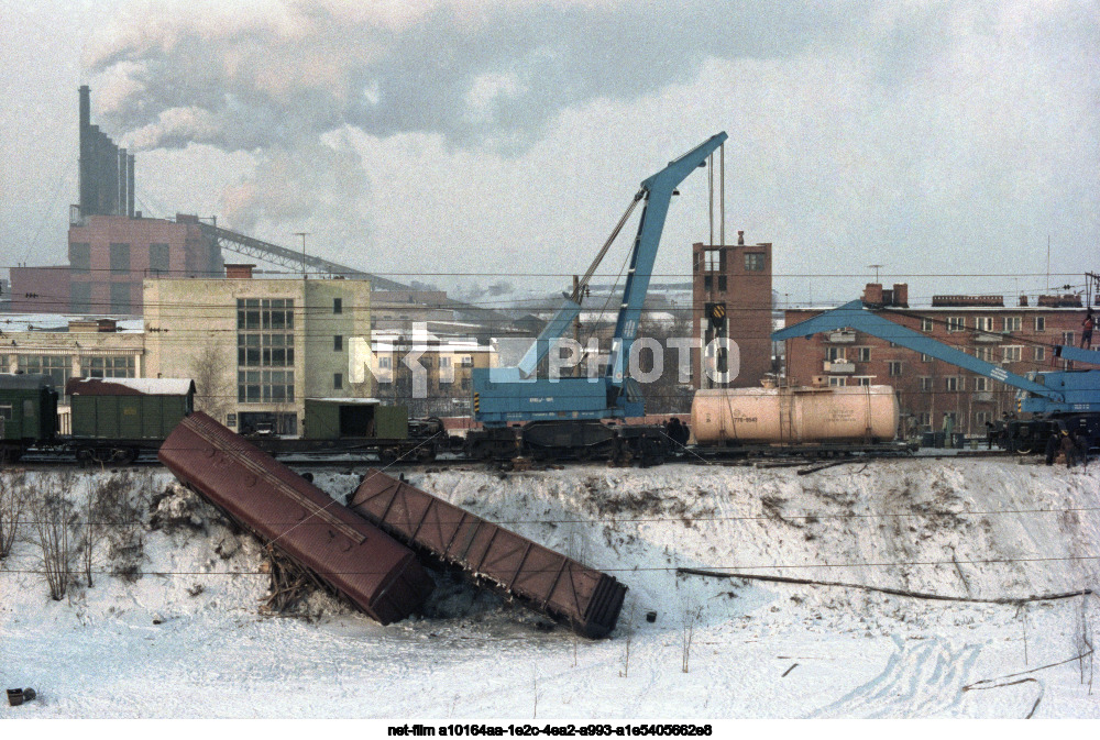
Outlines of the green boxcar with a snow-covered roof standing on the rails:
[{"label": "green boxcar with a snow-covered roof standing on the rails", "polygon": [[127,463],[156,450],[195,408],[188,378],[73,378],[70,444],[86,462]]}]

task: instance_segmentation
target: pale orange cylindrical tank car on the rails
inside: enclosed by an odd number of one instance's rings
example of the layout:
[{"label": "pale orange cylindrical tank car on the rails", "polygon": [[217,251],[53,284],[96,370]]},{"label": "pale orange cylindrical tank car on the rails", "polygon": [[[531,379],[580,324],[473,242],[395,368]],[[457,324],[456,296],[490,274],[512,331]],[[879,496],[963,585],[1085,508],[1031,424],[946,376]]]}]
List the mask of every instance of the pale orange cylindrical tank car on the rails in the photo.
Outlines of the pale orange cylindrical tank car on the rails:
[{"label": "pale orange cylindrical tank car on the rails", "polygon": [[700,446],[883,443],[900,415],[891,386],[704,389],[691,428]]}]

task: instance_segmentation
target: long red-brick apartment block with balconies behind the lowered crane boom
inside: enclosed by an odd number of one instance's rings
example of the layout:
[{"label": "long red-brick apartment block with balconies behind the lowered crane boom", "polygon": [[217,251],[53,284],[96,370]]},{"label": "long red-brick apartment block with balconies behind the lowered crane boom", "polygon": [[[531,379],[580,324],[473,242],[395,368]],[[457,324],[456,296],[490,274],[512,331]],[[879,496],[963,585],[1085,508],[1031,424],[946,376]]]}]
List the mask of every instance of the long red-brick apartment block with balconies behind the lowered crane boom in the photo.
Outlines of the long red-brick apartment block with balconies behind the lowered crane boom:
[{"label": "long red-brick apartment block with balconies behind the lowered crane boom", "polygon": [[[864,301],[891,309],[895,323],[1018,375],[1064,368],[1054,346],[1080,341],[1085,309],[1075,296],[1043,296],[1037,306],[1021,297],[1014,307],[1001,296],[936,296],[932,307],[905,310],[906,296],[905,285],[883,290],[870,284]],[[825,310],[788,310],[785,325]],[[791,385],[822,378],[831,386],[893,386],[906,433],[939,431],[950,416],[955,431],[983,434],[987,421],[1016,410],[1011,386],[850,329],[788,340],[787,378]]]}]

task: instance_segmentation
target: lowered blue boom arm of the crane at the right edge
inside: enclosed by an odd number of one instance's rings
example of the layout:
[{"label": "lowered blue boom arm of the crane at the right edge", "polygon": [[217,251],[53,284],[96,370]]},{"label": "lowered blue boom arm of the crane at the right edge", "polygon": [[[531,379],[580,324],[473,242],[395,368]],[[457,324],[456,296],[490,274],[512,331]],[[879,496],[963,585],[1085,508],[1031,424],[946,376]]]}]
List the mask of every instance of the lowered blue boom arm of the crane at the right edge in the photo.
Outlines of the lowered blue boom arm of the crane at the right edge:
[{"label": "lowered blue boom arm of the crane at the right edge", "polygon": [[893,342],[894,344],[900,344],[901,346],[913,350],[914,352],[921,352],[931,357],[935,357],[936,360],[943,360],[944,362],[961,367],[965,371],[983,375],[985,377],[992,378],[994,380],[1000,380],[1001,383],[1010,385],[1013,388],[1027,390],[1028,393],[1042,396],[1043,398],[1047,398],[1052,401],[1065,400],[1065,394],[1060,391],[1052,390],[1047,386],[1041,385],[1035,380],[1030,380],[1022,375],[1010,373],[1000,365],[978,360],[961,350],[947,346],[946,344],[937,342],[921,332],[913,331],[908,327],[902,327],[893,321],[883,319],[881,316],[865,309],[862,302],[858,300],[845,303],[844,306],[835,308],[832,311],[825,311],[820,316],[806,319],[805,321],[796,323],[793,327],[781,329],[780,331],[774,332],[771,338],[774,341],[781,341],[795,336],[810,336],[811,334],[816,334],[823,331],[836,331],[838,329],[844,329],[845,327],[858,329],[859,331],[870,334],[871,336],[878,336],[879,339]]}]

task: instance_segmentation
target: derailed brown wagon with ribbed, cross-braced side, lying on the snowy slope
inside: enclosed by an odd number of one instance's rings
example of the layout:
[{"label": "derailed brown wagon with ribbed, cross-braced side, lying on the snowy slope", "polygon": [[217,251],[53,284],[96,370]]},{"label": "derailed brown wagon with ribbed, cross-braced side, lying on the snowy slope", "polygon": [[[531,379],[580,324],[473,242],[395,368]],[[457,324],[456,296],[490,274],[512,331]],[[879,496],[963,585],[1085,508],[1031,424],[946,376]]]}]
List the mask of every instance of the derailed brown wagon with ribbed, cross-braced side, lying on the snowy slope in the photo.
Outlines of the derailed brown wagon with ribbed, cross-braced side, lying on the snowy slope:
[{"label": "derailed brown wagon with ribbed, cross-braced side, lying on the snowy slope", "polygon": [[438,562],[506,592],[588,638],[607,636],[626,586],[561,553],[371,470],[352,494],[352,511]]}]

